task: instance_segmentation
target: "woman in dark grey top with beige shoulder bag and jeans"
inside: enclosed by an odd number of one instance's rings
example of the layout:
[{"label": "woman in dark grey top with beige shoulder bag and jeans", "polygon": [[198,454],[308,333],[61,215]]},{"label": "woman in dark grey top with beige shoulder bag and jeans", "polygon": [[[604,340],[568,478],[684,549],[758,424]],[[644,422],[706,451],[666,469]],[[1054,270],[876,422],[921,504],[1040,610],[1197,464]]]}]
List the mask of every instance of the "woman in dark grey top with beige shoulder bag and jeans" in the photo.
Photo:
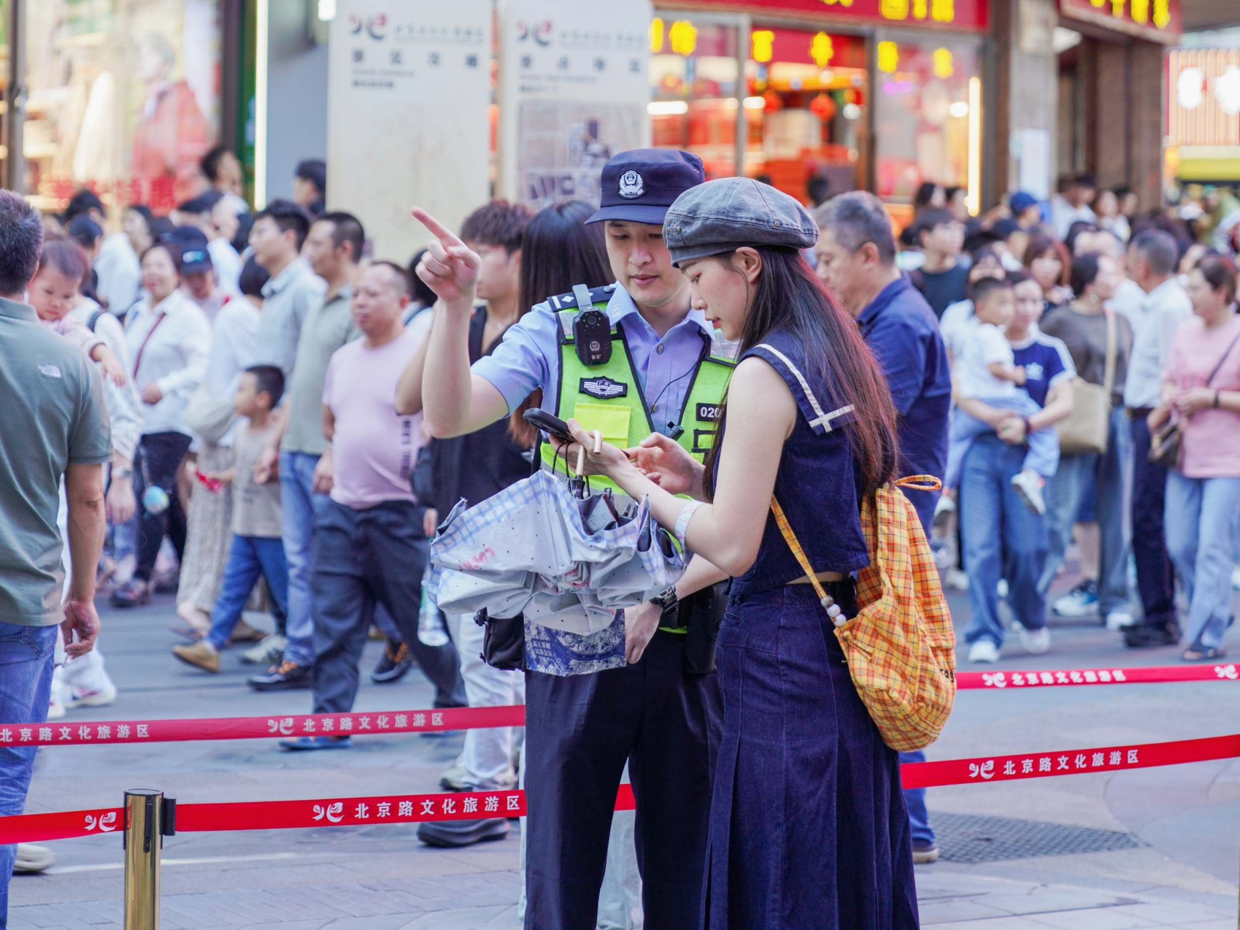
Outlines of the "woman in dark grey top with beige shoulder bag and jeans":
[{"label": "woman in dark grey top with beige shoulder bag and jeans", "polygon": [[1071,542],[1081,501],[1089,497],[1092,485],[1097,531],[1096,536],[1081,536],[1097,539],[1097,577],[1083,579],[1078,589],[1055,601],[1054,609],[1064,613],[1065,601],[1092,600],[1086,585],[1096,585],[1097,610],[1109,629],[1133,621],[1128,598],[1132,532],[1127,516],[1132,497],[1132,430],[1123,408],[1132,327],[1121,314],[1106,308],[1122,280],[1122,269],[1109,255],[1078,255],[1071,272],[1076,298],[1048,312],[1040,324],[1044,334],[1068,347],[1078,378],[1073,386],[1073,414],[1056,425],[1059,470],[1047,479],[1049,549],[1038,589],[1045,594],[1054,582]]}]

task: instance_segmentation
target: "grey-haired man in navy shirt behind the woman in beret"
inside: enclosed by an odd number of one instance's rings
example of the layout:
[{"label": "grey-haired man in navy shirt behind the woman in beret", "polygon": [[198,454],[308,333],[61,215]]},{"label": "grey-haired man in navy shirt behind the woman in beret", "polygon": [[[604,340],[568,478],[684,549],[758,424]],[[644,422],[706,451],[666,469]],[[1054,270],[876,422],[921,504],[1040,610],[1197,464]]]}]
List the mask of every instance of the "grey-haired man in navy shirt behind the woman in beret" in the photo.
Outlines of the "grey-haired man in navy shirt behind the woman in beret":
[{"label": "grey-haired man in navy shirt behind the woman in beret", "polygon": [[[887,374],[900,414],[900,474],[934,475],[941,481],[947,470],[951,408],[947,350],[934,310],[895,267],[892,221],[882,201],[863,191],[827,201],[815,218],[821,228],[815,246],[818,278],[857,317],[866,345]],[[905,494],[929,537],[937,492]],[[925,753],[900,753],[900,761],[925,761]],[[924,787],[904,792],[914,862],[939,858],[925,794]]]}]

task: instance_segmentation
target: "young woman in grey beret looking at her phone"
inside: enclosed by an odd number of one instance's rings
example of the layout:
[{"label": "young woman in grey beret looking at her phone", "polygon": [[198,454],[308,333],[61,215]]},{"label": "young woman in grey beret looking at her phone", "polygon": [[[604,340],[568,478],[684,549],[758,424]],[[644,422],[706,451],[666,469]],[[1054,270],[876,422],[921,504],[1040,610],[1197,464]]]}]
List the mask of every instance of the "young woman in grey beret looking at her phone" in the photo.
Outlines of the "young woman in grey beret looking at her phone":
[{"label": "young woman in grey beret looking at her phone", "polygon": [[750,179],[711,181],[680,196],[663,236],[693,306],[740,340],[712,454],[697,465],[661,435],[594,453],[570,427],[591,470],[649,498],[660,525],[733,577],[718,639],[724,732],[706,925],[914,928],[897,754],[770,511],[774,494],[817,578],[856,615],[852,573],[868,563],[861,498],[895,471],[890,394],[856,322],[801,259],[817,228],[791,197]]}]

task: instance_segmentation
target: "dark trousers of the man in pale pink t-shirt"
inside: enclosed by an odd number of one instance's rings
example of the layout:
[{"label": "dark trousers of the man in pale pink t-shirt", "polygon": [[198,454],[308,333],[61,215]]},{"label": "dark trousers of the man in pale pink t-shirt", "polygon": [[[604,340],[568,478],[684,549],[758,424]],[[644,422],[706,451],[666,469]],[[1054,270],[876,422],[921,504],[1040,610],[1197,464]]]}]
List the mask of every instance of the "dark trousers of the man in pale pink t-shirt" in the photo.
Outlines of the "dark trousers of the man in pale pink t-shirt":
[{"label": "dark trousers of the man in pale pink t-shirt", "polygon": [[422,532],[425,507],[384,501],[353,510],[327,501],[315,513],[310,546],[314,613],[314,712],[353,709],[357,663],[382,604],[401,639],[435,686],[435,707],[465,707],[465,682],[456,647],[418,639],[422,573],[430,543]]}]

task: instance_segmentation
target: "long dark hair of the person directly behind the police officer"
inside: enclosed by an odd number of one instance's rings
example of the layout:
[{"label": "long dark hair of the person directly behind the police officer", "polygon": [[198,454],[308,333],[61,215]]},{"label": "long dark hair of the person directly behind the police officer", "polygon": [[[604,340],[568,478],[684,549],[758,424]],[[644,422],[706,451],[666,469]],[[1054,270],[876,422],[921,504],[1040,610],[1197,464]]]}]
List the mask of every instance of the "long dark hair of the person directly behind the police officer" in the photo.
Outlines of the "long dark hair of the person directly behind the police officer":
[{"label": "long dark hair of the person directly behind the police officer", "polygon": [[[615,280],[603,223],[585,224],[593,212],[593,205],[573,200],[544,207],[529,221],[521,246],[517,306],[522,316],[547,298],[567,294],[575,284],[599,288]],[[534,444],[538,432],[522,414],[539,403],[542,391],[534,391],[508,418],[508,432],[527,449]]]}]

